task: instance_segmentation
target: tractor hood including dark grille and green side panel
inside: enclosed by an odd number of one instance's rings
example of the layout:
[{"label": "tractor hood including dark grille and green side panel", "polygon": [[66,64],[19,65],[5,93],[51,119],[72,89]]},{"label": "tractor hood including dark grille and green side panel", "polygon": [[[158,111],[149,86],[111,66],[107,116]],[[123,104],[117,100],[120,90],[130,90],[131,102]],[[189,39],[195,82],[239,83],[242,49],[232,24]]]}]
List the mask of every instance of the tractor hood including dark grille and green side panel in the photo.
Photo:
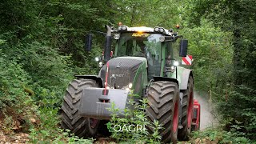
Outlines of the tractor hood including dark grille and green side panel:
[{"label": "tractor hood including dark grille and green side panel", "polygon": [[[108,66],[108,73],[107,73]],[[132,89],[138,91],[142,83],[142,69],[147,67],[146,58],[141,57],[118,57],[112,58],[102,67],[101,78],[103,83],[107,81],[110,89],[126,90],[130,83]],[[107,78],[106,78],[107,77]]]}]

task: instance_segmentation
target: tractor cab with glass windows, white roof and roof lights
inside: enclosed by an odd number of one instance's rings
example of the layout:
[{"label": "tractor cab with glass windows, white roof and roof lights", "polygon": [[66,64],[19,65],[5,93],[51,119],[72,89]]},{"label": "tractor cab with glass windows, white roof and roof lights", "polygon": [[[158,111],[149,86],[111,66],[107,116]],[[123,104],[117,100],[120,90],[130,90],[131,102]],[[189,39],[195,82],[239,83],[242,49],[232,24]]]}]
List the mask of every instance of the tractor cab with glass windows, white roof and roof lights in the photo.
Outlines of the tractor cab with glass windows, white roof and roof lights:
[{"label": "tractor cab with glass windows, white roof and roof lights", "polygon": [[[154,77],[170,77],[166,72],[174,72],[171,68],[174,69],[175,60],[179,58],[177,45],[173,46],[178,38],[180,36],[173,30],[158,26],[118,26],[114,34],[114,39],[118,40],[114,57],[146,58],[148,82]],[[182,49],[186,53],[186,46]]]}]

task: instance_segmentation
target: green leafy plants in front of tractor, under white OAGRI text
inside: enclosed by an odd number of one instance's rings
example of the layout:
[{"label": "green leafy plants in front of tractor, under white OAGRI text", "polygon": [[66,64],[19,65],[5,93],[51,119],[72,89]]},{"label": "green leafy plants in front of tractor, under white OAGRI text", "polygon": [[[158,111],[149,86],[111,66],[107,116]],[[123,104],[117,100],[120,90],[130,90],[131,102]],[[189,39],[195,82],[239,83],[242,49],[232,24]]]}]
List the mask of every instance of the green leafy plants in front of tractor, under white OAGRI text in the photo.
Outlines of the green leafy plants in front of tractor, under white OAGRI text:
[{"label": "green leafy plants in front of tractor, under white OAGRI text", "polygon": [[[146,119],[147,99],[140,100],[141,104],[134,102],[133,95],[130,94],[129,106],[123,111],[115,108],[112,102],[110,107],[111,119],[108,122],[107,128],[111,132],[111,137],[115,138],[120,143],[160,143],[161,136],[158,131],[162,129],[157,121],[150,123]],[[119,117],[124,114],[124,117]],[[146,126],[154,128],[154,133],[149,134]]]}]

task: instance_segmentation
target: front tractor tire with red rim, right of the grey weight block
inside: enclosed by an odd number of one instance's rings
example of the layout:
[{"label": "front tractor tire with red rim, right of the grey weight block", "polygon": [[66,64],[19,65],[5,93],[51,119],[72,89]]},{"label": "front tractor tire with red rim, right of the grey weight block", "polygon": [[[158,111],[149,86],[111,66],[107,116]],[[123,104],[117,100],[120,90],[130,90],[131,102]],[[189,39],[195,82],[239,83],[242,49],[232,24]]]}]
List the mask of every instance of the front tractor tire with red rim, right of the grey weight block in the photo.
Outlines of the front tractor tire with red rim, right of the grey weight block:
[{"label": "front tractor tire with red rim, right of the grey weight block", "polygon": [[[147,118],[150,122],[158,120],[164,128],[159,130],[162,142],[177,143],[178,107],[180,105],[178,85],[174,82],[152,82],[148,90]],[[148,127],[150,134],[153,128]]]}]

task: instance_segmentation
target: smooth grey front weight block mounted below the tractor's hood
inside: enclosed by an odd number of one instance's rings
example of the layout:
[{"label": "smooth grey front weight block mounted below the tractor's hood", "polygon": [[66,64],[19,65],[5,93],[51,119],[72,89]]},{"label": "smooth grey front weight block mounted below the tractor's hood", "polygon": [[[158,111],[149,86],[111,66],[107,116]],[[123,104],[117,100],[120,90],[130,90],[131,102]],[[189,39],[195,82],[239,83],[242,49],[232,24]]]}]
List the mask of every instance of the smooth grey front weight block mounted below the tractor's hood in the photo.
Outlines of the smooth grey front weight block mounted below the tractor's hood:
[{"label": "smooth grey front weight block mounted below the tractor's hood", "polygon": [[118,90],[89,87],[82,90],[81,105],[78,108],[82,117],[96,119],[110,119],[111,102],[114,102],[115,108],[118,108],[119,116],[123,115],[123,110],[128,106],[129,90]]}]

